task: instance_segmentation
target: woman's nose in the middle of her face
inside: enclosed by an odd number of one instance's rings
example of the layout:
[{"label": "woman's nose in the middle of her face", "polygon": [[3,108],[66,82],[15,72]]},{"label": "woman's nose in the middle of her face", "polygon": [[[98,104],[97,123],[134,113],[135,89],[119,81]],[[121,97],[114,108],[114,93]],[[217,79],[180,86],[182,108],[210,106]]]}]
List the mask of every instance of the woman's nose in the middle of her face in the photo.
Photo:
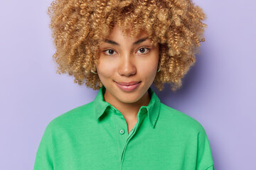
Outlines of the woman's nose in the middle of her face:
[{"label": "woman's nose in the middle of her face", "polygon": [[134,64],[134,59],[132,56],[125,55],[124,57],[121,57],[121,60],[119,61],[119,68],[118,73],[122,76],[129,77],[131,75],[136,74],[137,69]]}]

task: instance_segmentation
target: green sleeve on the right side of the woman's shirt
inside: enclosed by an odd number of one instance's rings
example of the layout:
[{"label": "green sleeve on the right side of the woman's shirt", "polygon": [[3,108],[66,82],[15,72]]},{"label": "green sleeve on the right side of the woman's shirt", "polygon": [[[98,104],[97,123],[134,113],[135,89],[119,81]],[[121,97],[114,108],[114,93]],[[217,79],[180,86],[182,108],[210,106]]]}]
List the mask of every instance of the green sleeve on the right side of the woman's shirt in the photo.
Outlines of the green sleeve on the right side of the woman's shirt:
[{"label": "green sleeve on the right side of the woman's shirt", "polygon": [[198,132],[198,154],[196,170],[214,170],[210,143],[203,129]]}]

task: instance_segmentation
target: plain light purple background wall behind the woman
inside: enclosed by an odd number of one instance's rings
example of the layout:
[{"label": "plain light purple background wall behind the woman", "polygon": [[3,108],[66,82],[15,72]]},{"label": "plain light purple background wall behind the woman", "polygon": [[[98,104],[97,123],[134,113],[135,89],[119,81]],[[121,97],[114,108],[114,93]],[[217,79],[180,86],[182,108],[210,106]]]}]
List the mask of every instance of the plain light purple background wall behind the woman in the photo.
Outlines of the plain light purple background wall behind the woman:
[{"label": "plain light purple background wall behind the woman", "polygon": [[[46,125],[97,91],[55,74],[51,1],[1,1],[0,169],[33,169]],[[256,169],[256,2],[196,0],[208,16],[197,62],[163,103],[205,128],[215,169]],[[156,91],[156,89],[154,89]]]}]

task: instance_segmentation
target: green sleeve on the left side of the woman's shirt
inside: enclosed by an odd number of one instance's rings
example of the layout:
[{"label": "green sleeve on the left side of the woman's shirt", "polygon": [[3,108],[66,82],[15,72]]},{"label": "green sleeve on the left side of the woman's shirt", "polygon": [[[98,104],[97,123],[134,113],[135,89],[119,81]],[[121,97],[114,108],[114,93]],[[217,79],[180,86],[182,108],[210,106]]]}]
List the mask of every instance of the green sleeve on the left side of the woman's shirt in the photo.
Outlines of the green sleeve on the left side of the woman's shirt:
[{"label": "green sleeve on the left side of the woman's shirt", "polygon": [[47,126],[36,152],[36,161],[33,170],[53,169],[53,140],[50,124]]}]

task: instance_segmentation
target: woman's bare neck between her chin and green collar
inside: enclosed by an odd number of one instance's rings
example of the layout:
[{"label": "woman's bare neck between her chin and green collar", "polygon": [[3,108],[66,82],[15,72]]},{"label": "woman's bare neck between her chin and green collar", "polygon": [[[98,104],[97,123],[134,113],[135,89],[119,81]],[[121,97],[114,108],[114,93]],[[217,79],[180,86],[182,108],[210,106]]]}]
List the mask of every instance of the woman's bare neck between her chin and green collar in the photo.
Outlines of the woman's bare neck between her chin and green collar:
[{"label": "woman's bare neck between her chin and green collar", "polygon": [[117,110],[122,113],[124,118],[128,120],[136,119],[139,108],[142,106],[148,106],[150,101],[148,91],[146,91],[146,93],[142,96],[142,98],[139,99],[139,101],[134,103],[124,103],[119,101],[117,98],[114,98],[114,96],[110,95],[107,90],[105,92],[104,98],[105,101],[114,106],[114,108],[117,108]]}]

